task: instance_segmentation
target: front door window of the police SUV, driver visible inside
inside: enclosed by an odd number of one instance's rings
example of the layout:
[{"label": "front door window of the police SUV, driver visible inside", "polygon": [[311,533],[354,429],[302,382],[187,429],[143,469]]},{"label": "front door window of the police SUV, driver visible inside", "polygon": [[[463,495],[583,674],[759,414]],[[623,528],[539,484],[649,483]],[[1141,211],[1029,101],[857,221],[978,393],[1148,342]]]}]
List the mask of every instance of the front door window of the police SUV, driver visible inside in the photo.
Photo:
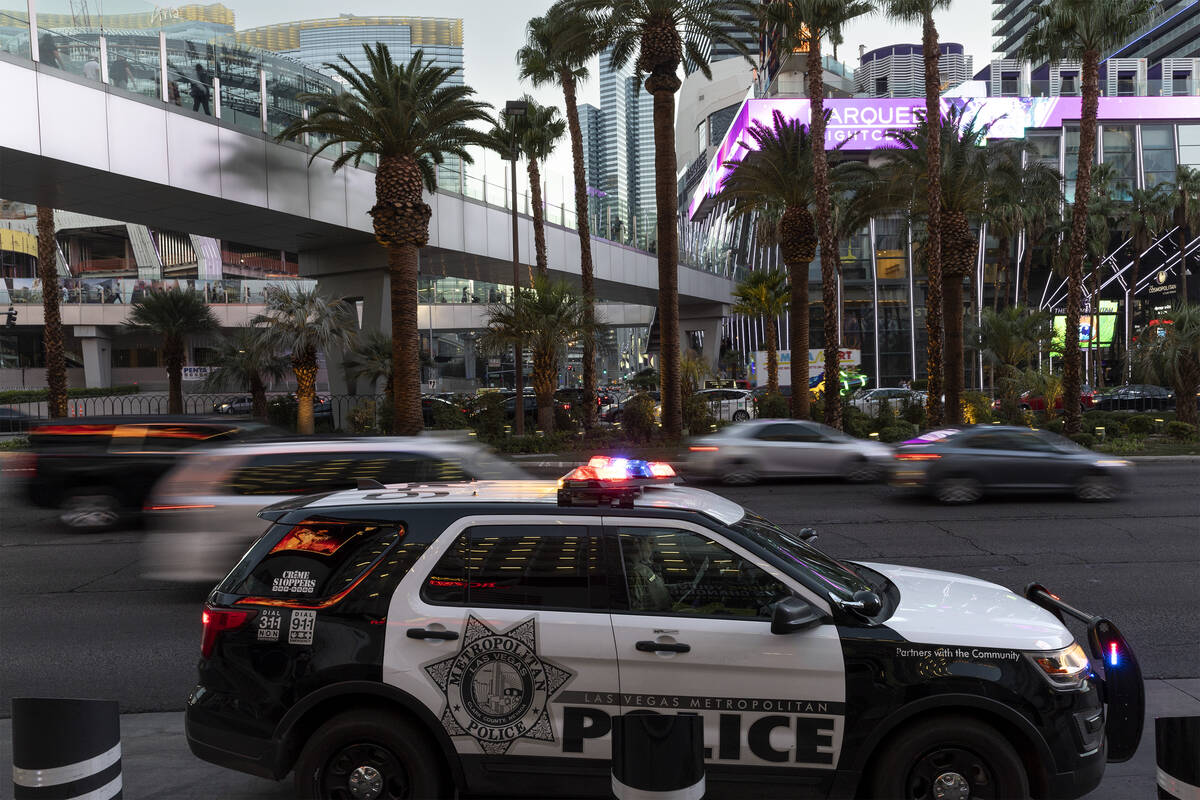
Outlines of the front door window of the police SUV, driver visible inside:
[{"label": "front door window of the police SUV, driver visible inside", "polygon": [[707,536],[671,528],[618,529],[632,613],[770,619],[792,593]]}]

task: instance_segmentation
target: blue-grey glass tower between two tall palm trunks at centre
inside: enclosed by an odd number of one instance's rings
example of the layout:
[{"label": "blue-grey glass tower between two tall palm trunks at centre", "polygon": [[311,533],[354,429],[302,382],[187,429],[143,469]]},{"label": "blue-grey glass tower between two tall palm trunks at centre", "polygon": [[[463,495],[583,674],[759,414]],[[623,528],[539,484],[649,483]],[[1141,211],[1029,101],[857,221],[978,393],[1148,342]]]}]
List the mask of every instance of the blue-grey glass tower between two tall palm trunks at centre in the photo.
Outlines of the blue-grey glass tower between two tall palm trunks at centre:
[{"label": "blue-grey glass tower between two tall palm trunks at centre", "polygon": [[[587,107],[595,110],[594,107]],[[588,116],[584,162],[595,158],[588,185],[595,192],[590,213],[598,233],[646,246],[654,239],[654,120],[652,98],[637,85],[634,70],[614,68],[612,52],[600,54],[599,114]]]}]

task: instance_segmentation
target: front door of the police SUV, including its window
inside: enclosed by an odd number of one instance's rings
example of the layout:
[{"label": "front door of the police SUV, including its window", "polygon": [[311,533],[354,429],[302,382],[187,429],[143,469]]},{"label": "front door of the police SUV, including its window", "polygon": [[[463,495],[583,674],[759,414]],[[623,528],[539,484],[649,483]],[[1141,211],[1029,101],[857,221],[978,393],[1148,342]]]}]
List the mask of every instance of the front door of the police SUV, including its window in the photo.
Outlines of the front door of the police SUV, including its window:
[{"label": "front door of the police SUV, including its window", "polygon": [[774,634],[770,612],[788,595],[828,604],[701,525],[610,517],[605,530],[628,587],[612,616],[622,712],[701,714],[713,780],[775,772],[791,796],[823,794],[844,730],[838,630]]}]

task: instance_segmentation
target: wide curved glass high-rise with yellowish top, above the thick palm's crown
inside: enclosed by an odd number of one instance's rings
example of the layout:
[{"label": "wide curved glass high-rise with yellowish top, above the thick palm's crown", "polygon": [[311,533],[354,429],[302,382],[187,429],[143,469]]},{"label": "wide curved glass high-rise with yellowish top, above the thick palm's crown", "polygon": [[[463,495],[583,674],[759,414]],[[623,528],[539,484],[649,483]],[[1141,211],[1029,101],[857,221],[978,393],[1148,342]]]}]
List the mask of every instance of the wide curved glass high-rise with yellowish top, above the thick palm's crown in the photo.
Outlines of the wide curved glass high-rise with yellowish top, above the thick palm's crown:
[{"label": "wide curved glass high-rise with yellowish top, above the thick palm's crown", "polygon": [[317,70],[337,62],[341,55],[365,70],[362,46],[383,42],[396,61],[408,61],[416,50],[422,50],[432,64],[457,67],[449,83],[462,84],[461,19],[340,14],[250,28],[238,31],[238,41],[290,55]]}]

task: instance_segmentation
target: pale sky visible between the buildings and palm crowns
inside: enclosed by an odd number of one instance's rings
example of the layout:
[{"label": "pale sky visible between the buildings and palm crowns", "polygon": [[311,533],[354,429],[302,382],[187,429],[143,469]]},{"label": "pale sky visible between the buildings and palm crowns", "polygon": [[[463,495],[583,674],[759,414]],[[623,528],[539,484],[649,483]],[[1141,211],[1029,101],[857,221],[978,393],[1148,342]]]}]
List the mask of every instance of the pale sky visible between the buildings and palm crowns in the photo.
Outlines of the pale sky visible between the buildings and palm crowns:
[{"label": "pale sky visible between the buildings and palm crowns", "polygon": [[[256,28],[271,23],[335,17],[338,13],[360,16],[461,17],[463,19],[463,72],[479,96],[493,106],[530,94],[539,102],[562,108],[562,94],[553,88],[534,90],[517,79],[516,52],[524,42],[524,26],[530,17],[542,13],[551,0],[221,0],[234,11],[238,28]],[[958,42],[974,56],[978,72],[991,60],[991,0],[954,0],[949,11],[935,17],[943,42]],[[884,44],[920,42],[919,25],[900,25],[882,14],[869,14],[851,23],[838,58],[850,67],[858,66],[858,46],[868,50]],[[593,65],[593,74],[595,66]],[[580,102],[600,104],[596,80],[581,88]],[[570,155],[565,146],[550,160],[547,170],[570,175]]]}]

